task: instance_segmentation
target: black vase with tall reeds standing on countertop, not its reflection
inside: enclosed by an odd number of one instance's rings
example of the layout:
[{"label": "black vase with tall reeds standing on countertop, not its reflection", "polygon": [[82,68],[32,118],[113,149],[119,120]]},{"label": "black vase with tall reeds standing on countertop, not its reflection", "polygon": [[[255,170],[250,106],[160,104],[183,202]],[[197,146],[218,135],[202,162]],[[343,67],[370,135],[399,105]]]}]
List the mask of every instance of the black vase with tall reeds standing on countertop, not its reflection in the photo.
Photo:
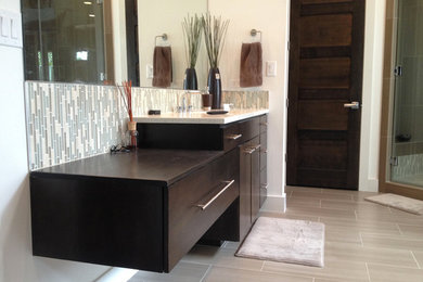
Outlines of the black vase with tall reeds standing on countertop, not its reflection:
[{"label": "black vase with tall reeds standing on countertop, not its reflection", "polygon": [[209,13],[202,16],[204,38],[207,49],[208,73],[207,86],[213,94],[211,108],[221,107],[221,79],[219,72],[219,61],[225,46],[225,37],[228,30],[229,20],[222,21],[221,16],[211,16]]}]

